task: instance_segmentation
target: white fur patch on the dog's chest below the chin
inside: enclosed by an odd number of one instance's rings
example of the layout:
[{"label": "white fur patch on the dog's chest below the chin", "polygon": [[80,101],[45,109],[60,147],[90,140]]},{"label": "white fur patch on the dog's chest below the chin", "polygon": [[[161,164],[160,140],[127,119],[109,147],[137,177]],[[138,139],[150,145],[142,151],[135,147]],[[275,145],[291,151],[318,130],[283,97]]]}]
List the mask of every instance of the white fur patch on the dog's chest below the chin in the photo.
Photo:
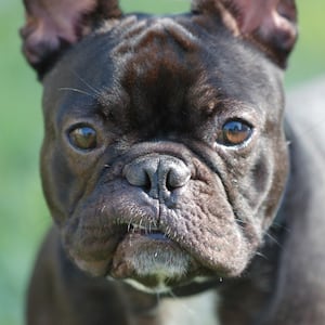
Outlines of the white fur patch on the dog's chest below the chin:
[{"label": "white fur patch on the dog's chest below the chin", "polygon": [[212,290],[193,297],[164,299],[159,309],[159,324],[221,325],[218,302],[218,294]]}]

